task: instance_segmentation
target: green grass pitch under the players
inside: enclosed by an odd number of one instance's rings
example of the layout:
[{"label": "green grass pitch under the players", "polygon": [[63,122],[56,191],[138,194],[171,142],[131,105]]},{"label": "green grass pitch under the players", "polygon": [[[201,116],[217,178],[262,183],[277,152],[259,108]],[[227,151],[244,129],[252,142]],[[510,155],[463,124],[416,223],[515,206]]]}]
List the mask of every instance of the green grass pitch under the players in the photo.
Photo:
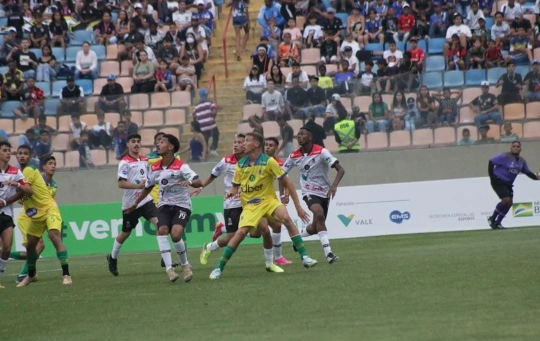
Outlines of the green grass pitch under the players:
[{"label": "green grass pitch under the players", "polygon": [[[0,339],[11,340],[363,340],[540,339],[540,248],[536,228],[332,240],[335,265],[319,260],[267,273],[262,248],[245,245],[224,277],[189,249],[191,283],[168,282],[158,253],[73,257],[64,287],[56,259],[17,289],[22,262],[8,264],[0,292]],[[129,243],[129,240],[127,240]],[[176,255],[174,255],[176,259]]]}]

